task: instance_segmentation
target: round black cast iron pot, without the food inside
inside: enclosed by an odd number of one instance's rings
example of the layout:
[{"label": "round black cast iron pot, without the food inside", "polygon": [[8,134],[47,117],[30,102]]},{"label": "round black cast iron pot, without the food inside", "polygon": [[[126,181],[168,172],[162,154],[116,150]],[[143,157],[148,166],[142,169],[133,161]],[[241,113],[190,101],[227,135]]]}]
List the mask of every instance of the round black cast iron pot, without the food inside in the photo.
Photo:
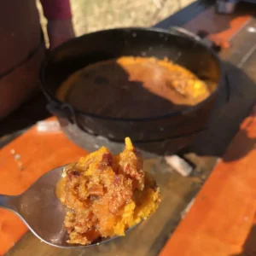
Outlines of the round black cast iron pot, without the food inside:
[{"label": "round black cast iron pot, without the food inside", "polygon": [[205,127],[218,87],[211,96],[194,107],[144,119],[85,113],[56,99],[56,89],[70,74],[90,63],[124,55],[154,56],[159,59],[167,57],[200,78],[211,79],[218,86],[223,78],[220,61],[211,45],[179,27],[170,30],[118,28],[86,34],[55,49],[44,61],[41,71],[49,111],[58,117],[63,127],[73,124],[86,134],[106,137],[117,143],[123,143],[127,136],[134,143],[160,142],[186,137]]}]

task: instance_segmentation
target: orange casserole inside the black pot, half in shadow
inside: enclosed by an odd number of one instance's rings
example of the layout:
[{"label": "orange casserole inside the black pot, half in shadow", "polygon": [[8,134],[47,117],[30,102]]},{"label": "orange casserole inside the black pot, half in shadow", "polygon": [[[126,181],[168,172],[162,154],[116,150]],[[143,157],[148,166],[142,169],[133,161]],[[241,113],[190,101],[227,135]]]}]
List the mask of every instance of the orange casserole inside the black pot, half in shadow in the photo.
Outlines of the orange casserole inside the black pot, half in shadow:
[{"label": "orange casserole inside the black pot, half in shadow", "polygon": [[215,88],[216,84],[167,59],[123,56],[71,74],[56,96],[84,113],[137,119],[195,106]]}]

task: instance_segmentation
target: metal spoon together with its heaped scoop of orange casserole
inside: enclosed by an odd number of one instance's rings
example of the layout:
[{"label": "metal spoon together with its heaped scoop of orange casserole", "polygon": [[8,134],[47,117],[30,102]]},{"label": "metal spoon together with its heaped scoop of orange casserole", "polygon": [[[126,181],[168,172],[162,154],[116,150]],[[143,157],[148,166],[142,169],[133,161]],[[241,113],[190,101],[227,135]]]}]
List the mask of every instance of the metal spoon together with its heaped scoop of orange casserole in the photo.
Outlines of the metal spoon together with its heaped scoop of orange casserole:
[{"label": "metal spoon together with its heaped scoop of orange casserole", "polygon": [[125,138],[108,148],[47,172],[20,195],[0,195],[39,239],[56,247],[86,247],[125,236],[160,203],[160,189],[143,172],[143,159]]}]

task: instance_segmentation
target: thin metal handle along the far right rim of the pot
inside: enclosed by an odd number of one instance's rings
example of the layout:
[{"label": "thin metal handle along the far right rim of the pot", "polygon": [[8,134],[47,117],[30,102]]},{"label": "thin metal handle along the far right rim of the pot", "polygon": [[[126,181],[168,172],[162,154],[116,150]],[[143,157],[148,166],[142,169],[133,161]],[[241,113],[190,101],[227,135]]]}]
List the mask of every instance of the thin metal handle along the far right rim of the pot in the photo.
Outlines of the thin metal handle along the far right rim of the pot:
[{"label": "thin metal handle along the far right rim of the pot", "polygon": [[214,42],[212,42],[211,40],[209,40],[207,38],[207,35],[208,35],[207,32],[199,31],[197,34],[195,34],[193,32],[189,32],[189,30],[187,30],[183,27],[180,27],[180,26],[171,26],[170,29],[174,30],[175,32],[180,33],[180,35],[183,37],[192,38],[198,42],[206,44],[207,47],[209,47],[215,51],[219,51],[219,47],[216,44],[214,44]]}]

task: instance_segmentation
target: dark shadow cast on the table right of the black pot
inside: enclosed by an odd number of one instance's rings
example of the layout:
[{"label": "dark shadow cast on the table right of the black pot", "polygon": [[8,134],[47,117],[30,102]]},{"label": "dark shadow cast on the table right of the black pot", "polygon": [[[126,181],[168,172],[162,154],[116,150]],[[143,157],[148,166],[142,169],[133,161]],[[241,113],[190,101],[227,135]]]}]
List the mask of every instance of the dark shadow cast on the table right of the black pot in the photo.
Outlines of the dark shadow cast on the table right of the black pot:
[{"label": "dark shadow cast on the table right of the black pot", "polygon": [[[189,148],[190,152],[198,155],[223,156],[232,138],[239,131],[241,122],[251,112],[256,102],[256,84],[247,74],[230,63],[224,63],[224,70],[228,74],[229,87],[226,89],[225,84],[221,84],[208,129],[201,132]],[[227,96],[226,90],[230,90],[228,102],[224,102],[224,97]],[[249,136],[246,129],[242,127],[237,138],[241,142],[240,147],[232,148],[233,153],[227,155],[225,161],[239,159],[254,148],[256,137]]]}]

